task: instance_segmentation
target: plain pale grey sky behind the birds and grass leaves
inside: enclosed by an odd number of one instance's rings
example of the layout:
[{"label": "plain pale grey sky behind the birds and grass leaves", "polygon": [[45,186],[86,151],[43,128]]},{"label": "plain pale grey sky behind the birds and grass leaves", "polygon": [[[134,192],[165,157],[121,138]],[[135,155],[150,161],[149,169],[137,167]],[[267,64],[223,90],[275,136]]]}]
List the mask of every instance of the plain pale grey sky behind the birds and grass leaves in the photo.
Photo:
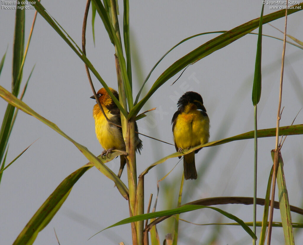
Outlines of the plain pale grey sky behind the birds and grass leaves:
[{"label": "plain pale grey sky behind the birds and grass leaves", "polygon": [[[123,2],[120,4],[122,26]],[[42,5],[68,34],[81,46],[81,29],[85,2],[42,1]],[[130,1],[130,25],[133,53],[134,97],[142,80],[154,64],[180,40],[202,32],[230,30],[240,24],[258,18],[261,1]],[[264,15],[273,12],[265,5]],[[34,10],[26,11],[25,39],[27,40]],[[0,76],[0,84],[10,90],[12,41],[15,11],[0,9],[0,56],[8,51]],[[91,11],[89,20],[91,19]],[[283,29],[284,19],[272,22]],[[302,12],[288,18],[288,34],[303,40]],[[257,32],[257,31],[255,31]],[[283,38],[283,34],[263,26],[263,33]],[[92,64],[110,87],[117,89],[114,48],[101,20],[96,17],[93,47],[90,21],[87,28],[86,52]],[[178,58],[195,49],[215,34],[191,39],[171,52],[152,73],[146,89]],[[251,89],[255,67],[256,35],[246,35],[227,47],[212,53],[189,66],[173,86],[180,73],[166,82],[152,96],[144,109],[157,107],[148,117],[138,121],[139,131],[172,143],[171,118],[176,111],[176,100],[184,92],[194,90],[203,97],[211,128],[210,141],[234,136],[253,130],[253,105]],[[282,42],[263,37],[262,42],[262,94],[258,105],[258,128],[275,127],[278,107]],[[138,56],[139,60],[135,57]],[[295,82],[302,87],[303,50],[287,45],[286,67],[282,106],[285,106],[281,126],[290,125],[300,108],[303,97]],[[38,15],[28,56],[24,66],[23,83],[32,67],[24,102],[43,117],[57,124],[68,136],[99,155],[102,147],[95,137],[92,108],[95,102],[89,97],[92,91],[87,81],[84,65],[78,56],[58,36],[50,25]],[[93,77],[95,88],[101,85]],[[143,92],[142,94],[144,94]],[[0,99],[0,116],[7,103]],[[143,111],[143,110],[142,110]],[[300,113],[295,124],[303,122]],[[38,140],[37,140],[38,139]],[[141,136],[142,155],[137,157],[138,173],[163,156],[175,152],[175,147],[155,142]],[[37,119],[19,112],[9,140],[7,163],[37,140],[2,176],[0,185],[0,243],[12,244],[35,211],[70,173],[88,162],[77,148]],[[270,150],[275,138],[258,140],[258,197],[264,198],[271,168]],[[182,203],[215,196],[253,196],[253,140],[231,142],[205,148],[196,155],[198,179],[186,181]],[[302,136],[289,136],[282,149],[285,178],[291,204],[302,206]],[[145,210],[150,193],[157,192],[157,179],[161,179],[178,162],[170,159],[152,169],[145,177]],[[118,172],[119,160],[108,166]],[[205,173],[202,171],[205,169]],[[200,173],[199,173],[200,170]],[[182,163],[160,182],[157,211],[167,208],[165,200],[177,203],[176,192],[183,171]],[[126,171],[125,171],[126,172]],[[125,172],[122,180],[126,181]],[[177,181],[177,182],[176,182]],[[177,184],[175,184],[177,183]],[[155,200],[155,199],[154,199]],[[154,203],[153,200],[153,203]],[[152,205],[153,205],[152,203]],[[252,221],[252,206],[225,205],[225,211],[244,221]],[[257,220],[263,209],[258,207]],[[34,244],[57,244],[54,228],[61,244],[131,244],[130,226],[124,225],[105,230],[88,240],[96,232],[128,217],[128,203],[114,189],[113,183],[97,169],[92,168],[76,183],[69,197],[52,221],[38,234]],[[195,223],[230,222],[215,211],[202,210],[182,214],[180,218]],[[275,211],[279,221],[279,211]],[[293,222],[298,221],[293,215]],[[172,221],[171,221],[172,222]],[[165,225],[164,225],[165,224]],[[158,225],[160,239],[172,232],[164,223]],[[209,238],[215,227],[180,223],[179,244],[201,244]],[[216,228],[215,228],[216,229]],[[259,229],[257,229],[259,234]],[[273,243],[283,238],[281,228],[274,228]],[[192,238],[195,237],[195,238]],[[221,227],[218,244],[251,244],[248,234],[240,227]],[[195,240],[191,240],[195,239]],[[300,241],[302,235],[297,234]],[[281,240],[281,241],[282,241]],[[281,243],[282,244],[282,243]]]}]

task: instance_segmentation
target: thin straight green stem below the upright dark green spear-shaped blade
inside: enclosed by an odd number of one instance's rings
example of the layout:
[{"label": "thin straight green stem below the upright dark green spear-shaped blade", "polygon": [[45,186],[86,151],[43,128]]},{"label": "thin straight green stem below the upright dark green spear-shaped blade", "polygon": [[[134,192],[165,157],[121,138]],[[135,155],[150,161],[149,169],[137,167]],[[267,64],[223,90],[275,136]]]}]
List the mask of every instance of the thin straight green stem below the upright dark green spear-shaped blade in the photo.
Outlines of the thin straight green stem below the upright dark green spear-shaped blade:
[{"label": "thin straight green stem below the upright dark green spear-shaped blade", "polygon": [[[258,156],[258,134],[257,134],[257,105],[255,105],[255,165],[254,165],[254,224],[253,232],[256,234],[256,217],[257,217],[257,156]],[[252,244],[256,244],[256,240],[252,240]]]}]

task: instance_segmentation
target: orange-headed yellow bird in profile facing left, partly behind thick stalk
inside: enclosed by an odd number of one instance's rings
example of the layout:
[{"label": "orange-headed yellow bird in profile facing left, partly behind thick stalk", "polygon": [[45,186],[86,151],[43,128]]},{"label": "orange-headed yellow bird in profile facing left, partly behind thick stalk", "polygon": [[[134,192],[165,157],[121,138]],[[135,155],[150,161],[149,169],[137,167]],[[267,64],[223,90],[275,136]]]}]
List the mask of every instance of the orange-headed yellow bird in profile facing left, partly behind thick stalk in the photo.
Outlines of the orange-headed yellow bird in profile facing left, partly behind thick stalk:
[{"label": "orange-headed yellow bird in profile facing left, partly behind thick stalk", "polygon": [[[119,100],[117,91],[112,88],[109,89]],[[108,92],[106,92],[104,88],[99,89],[97,92],[97,97],[107,118],[114,124],[121,126],[120,110]],[[95,96],[93,95],[90,98],[95,99]],[[108,155],[108,153],[111,153],[112,150],[125,151],[125,142],[123,140],[122,128],[108,122],[98,104],[94,105],[93,117],[95,119],[95,131],[97,139],[99,140],[101,146],[104,148],[102,155]],[[135,123],[135,131],[138,132],[137,123]],[[140,153],[140,150],[142,149],[142,140],[139,139],[138,134],[135,136],[135,144],[136,151]],[[120,169],[117,175],[119,178],[121,177],[125,163],[125,156],[120,156]]]}]

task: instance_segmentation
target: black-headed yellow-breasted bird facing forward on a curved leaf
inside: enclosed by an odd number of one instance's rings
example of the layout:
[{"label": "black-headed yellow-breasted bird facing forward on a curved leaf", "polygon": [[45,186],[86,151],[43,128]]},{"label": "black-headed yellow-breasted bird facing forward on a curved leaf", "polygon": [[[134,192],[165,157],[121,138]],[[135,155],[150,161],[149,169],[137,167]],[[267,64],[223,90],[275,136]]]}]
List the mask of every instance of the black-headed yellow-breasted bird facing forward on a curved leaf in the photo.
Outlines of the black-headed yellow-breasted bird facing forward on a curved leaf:
[{"label": "black-headed yellow-breasted bird facing forward on a curved leaf", "polygon": [[[184,149],[207,143],[209,118],[201,95],[192,91],[186,92],[178,100],[177,105],[178,111],[171,119],[176,150],[181,152]],[[184,155],[185,179],[197,179],[195,153],[198,153],[199,150],[201,148]]]}]

